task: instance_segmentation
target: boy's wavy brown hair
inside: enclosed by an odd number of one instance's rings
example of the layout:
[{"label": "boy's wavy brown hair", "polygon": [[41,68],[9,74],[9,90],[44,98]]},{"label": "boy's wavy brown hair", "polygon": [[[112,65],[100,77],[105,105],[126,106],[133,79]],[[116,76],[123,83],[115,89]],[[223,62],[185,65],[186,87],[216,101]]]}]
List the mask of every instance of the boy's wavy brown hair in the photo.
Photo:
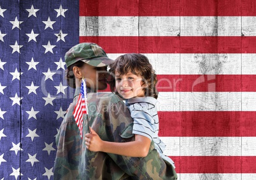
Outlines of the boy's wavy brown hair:
[{"label": "boy's wavy brown hair", "polygon": [[141,76],[141,86],[145,85],[145,87],[143,87],[145,96],[152,96],[157,99],[158,92],[155,87],[157,84],[157,75],[146,56],[137,53],[125,54],[118,56],[114,63],[110,65],[108,82],[110,83],[111,91],[118,94],[115,89],[115,70],[117,70],[120,75],[131,72],[132,74]]}]

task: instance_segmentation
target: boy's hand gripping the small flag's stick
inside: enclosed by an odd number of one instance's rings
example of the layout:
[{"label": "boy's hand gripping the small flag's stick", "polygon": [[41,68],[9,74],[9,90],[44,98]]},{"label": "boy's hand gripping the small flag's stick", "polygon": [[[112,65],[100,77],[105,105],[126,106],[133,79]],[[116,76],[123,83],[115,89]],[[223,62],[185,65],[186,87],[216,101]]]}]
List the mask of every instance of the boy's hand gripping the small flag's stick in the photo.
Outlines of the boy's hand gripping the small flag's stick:
[{"label": "boy's hand gripping the small flag's stick", "polygon": [[85,134],[85,145],[88,150],[101,151],[102,143],[103,141],[92,128],[90,128],[90,133]]}]

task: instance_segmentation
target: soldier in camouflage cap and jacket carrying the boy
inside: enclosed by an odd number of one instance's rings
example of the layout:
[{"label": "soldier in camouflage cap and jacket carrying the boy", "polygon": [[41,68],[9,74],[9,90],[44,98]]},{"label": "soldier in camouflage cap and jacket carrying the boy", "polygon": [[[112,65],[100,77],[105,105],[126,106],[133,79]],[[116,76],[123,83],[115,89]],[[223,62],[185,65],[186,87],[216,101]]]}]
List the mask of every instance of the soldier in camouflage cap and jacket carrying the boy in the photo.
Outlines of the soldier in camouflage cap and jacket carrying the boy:
[{"label": "soldier in camouflage cap and jacket carrying the boy", "polygon": [[73,103],[56,137],[57,155],[54,179],[176,179],[176,172],[166,165],[153,141],[144,158],[92,152],[85,148],[85,138],[73,117],[82,77],[86,79],[88,119],[83,119],[83,134],[90,127],[104,141],[134,141],[133,120],[122,99],[112,93],[96,93],[106,88],[106,67],[113,62],[95,43],[81,43],[69,49],[65,61],[69,86],[76,88]]}]

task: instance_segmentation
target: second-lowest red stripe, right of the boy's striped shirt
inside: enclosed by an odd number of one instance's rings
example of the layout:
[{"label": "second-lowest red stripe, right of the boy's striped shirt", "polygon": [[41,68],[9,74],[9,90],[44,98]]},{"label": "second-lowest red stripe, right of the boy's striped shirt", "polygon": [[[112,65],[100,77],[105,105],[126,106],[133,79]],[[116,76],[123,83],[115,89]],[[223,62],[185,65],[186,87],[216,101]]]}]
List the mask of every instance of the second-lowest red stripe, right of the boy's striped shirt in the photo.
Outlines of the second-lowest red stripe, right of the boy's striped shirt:
[{"label": "second-lowest red stripe, right of the boy's striped shirt", "polygon": [[159,136],[255,137],[256,112],[158,112]]}]

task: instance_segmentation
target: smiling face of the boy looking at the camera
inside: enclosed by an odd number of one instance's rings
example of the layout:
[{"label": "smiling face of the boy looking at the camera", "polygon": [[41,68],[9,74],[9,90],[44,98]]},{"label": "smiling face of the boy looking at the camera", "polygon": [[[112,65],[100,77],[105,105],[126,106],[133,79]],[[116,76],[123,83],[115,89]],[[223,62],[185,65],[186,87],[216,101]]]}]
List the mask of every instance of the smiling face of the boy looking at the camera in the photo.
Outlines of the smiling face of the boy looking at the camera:
[{"label": "smiling face of the boy looking at the camera", "polygon": [[143,87],[141,86],[141,80],[141,76],[132,74],[131,72],[120,75],[117,70],[115,71],[115,87],[118,94],[124,99],[145,96]]}]

